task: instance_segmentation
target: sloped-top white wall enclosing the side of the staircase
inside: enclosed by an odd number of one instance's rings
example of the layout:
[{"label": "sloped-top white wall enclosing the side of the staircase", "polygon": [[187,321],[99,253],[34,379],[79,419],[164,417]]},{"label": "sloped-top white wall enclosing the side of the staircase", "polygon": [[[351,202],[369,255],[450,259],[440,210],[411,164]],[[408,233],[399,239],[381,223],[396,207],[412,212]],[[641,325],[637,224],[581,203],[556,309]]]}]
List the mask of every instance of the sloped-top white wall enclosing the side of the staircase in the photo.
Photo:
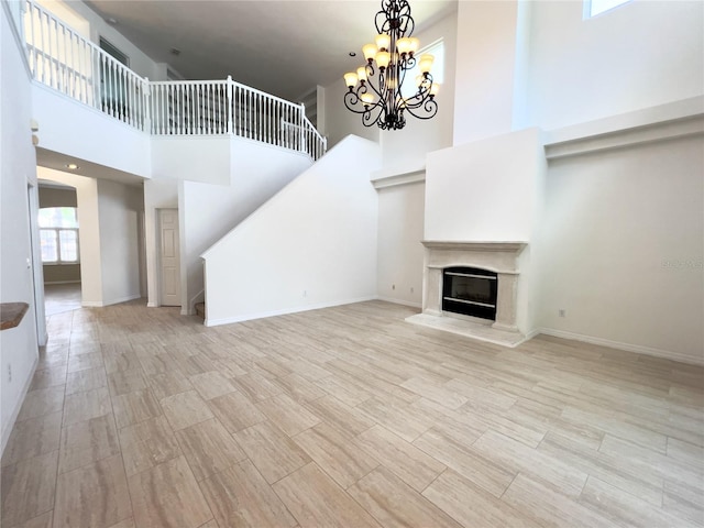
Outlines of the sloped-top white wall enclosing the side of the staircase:
[{"label": "sloped-top white wall enclosing the side of the staircase", "polygon": [[380,164],[349,136],[208,250],[207,324],[374,298]]}]

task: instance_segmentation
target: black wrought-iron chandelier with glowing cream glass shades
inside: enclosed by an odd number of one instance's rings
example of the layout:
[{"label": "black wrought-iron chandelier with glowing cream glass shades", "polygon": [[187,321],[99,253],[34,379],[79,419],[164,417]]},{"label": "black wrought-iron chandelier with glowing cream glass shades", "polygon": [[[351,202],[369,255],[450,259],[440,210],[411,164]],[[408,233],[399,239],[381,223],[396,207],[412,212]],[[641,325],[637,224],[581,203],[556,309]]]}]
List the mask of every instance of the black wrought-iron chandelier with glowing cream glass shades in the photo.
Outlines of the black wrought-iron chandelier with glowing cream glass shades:
[{"label": "black wrought-iron chandelier with glowing cream glass shades", "polygon": [[[408,1],[382,0],[374,24],[378,33],[375,43],[362,47],[366,64],[356,73],[344,74],[349,89],[344,106],[362,114],[365,127],[376,123],[382,130],[403,129],[406,113],[418,119],[432,118],[438,113],[435,97],[439,89],[430,75],[435,57],[426,54],[416,61],[420,41],[410,36],[416,24]],[[406,74],[416,64],[418,75],[410,79],[414,88],[404,89]]]}]

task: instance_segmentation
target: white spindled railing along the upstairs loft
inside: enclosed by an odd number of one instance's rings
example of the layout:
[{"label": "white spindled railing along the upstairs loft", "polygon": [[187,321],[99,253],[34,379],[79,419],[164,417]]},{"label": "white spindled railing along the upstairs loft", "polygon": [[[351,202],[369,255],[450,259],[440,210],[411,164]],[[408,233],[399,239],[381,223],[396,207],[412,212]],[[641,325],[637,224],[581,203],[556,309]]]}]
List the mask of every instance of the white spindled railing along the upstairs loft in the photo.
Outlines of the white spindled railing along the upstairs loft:
[{"label": "white spindled railing along the upstairs loft", "polygon": [[302,105],[226,80],[151,82],[33,0],[24,36],[35,80],[153,135],[239,135],[321,157]]}]

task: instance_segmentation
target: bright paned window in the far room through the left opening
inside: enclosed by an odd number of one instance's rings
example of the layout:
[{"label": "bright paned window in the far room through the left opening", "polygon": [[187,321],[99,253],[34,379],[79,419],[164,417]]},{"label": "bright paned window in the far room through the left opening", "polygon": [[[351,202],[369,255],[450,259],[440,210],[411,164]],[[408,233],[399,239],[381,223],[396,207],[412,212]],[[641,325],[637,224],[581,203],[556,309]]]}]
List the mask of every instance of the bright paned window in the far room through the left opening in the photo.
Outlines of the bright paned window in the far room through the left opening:
[{"label": "bright paned window in the far room through the left opening", "polygon": [[75,207],[40,209],[40,243],[44,264],[78,263],[78,217]]}]

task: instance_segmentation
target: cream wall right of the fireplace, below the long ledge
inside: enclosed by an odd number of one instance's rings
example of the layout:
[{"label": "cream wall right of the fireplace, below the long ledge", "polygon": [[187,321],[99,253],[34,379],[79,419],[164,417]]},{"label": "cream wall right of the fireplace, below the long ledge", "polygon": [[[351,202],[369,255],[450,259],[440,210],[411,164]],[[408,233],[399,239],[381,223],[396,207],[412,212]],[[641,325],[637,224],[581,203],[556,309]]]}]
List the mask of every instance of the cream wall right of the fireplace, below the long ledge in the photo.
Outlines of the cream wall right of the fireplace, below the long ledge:
[{"label": "cream wall right of the fireplace, below the long ledge", "polygon": [[541,327],[704,362],[703,153],[700,136],[550,163]]}]

